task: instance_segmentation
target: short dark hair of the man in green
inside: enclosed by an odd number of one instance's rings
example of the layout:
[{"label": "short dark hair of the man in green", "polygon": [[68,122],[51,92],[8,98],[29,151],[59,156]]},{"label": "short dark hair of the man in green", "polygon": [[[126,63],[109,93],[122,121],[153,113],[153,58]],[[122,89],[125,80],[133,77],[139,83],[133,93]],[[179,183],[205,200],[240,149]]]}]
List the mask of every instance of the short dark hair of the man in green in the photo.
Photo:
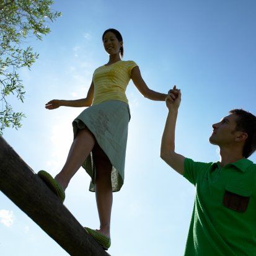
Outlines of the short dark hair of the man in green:
[{"label": "short dark hair of the man in green", "polygon": [[237,115],[236,131],[242,131],[248,135],[242,152],[243,156],[248,158],[256,150],[256,117],[243,109],[234,109],[229,113]]}]

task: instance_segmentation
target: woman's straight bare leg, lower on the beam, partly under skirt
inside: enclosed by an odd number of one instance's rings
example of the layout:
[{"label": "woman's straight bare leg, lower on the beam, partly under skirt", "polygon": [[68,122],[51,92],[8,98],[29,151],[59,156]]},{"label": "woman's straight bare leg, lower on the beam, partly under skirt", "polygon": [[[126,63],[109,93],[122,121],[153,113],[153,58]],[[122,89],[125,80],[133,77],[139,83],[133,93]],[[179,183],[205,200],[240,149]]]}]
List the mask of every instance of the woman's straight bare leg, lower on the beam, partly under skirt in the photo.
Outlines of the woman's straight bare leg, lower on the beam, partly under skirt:
[{"label": "woman's straight bare leg, lower on the beam, partly under skirt", "polygon": [[97,170],[95,196],[100,219],[99,232],[110,237],[110,218],[113,202],[111,172],[112,164],[99,145],[92,151]]}]

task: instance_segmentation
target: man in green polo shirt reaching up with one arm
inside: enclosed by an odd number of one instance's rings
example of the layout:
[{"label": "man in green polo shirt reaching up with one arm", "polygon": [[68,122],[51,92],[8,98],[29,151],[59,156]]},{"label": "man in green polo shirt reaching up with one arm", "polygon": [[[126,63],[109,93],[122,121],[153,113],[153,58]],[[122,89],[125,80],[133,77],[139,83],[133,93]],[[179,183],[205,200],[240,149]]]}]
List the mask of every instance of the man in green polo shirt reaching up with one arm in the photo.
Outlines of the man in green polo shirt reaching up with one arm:
[{"label": "man in green polo shirt reaching up with one arm", "polygon": [[175,152],[175,124],[180,90],[166,98],[169,113],[161,158],[196,187],[185,256],[256,255],[256,117],[231,110],[213,125],[210,143],[220,148],[215,163],[194,162]]}]

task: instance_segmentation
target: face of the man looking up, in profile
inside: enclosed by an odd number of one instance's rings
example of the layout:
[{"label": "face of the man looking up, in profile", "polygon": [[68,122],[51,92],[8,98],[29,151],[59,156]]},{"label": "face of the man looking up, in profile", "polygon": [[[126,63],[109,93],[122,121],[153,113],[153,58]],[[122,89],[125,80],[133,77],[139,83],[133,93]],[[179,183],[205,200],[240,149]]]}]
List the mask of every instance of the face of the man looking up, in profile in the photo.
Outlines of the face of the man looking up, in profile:
[{"label": "face of the man looking up, in profile", "polygon": [[232,144],[236,141],[237,133],[236,130],[236,119],[235,114],[223,117],[219,123],[214,123],[213,133],[209,138],[211,144],[224,146],[227,144]]}]

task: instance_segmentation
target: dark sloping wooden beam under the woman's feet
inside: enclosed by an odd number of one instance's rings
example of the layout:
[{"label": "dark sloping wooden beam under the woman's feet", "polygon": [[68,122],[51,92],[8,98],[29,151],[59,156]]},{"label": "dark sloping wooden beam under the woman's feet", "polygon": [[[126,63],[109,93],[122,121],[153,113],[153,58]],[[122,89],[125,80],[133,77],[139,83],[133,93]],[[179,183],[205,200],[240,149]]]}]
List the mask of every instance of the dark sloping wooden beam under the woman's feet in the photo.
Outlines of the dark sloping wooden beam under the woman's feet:
[{"label": "dark sloping wooden beam under the woman's feet", "polygon": [[0,189],[70,255],[109,255],[2,136]]}]

